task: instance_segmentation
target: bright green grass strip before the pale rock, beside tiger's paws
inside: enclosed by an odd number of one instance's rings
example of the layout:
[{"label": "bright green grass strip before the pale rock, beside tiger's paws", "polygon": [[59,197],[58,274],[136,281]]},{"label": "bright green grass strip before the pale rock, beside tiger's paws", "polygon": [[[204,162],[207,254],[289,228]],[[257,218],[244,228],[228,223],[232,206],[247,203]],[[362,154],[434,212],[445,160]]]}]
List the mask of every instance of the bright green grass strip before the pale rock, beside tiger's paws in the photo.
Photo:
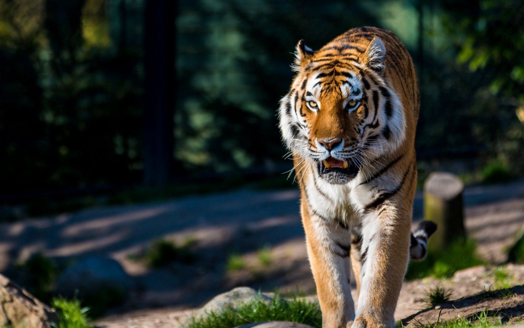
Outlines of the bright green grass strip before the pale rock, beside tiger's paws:
[{"label": "bright green grass strip before the pale rock, beside tiger's paws", "polygon": [[318,303],[293,297],[290,300],[275,295],[269,302],[261,298],[228,307],[220,312],[211,312],[203,318],[191,318],[184,328],[231,328],[260,321],[292,321],[322,326],[322,314]]}]

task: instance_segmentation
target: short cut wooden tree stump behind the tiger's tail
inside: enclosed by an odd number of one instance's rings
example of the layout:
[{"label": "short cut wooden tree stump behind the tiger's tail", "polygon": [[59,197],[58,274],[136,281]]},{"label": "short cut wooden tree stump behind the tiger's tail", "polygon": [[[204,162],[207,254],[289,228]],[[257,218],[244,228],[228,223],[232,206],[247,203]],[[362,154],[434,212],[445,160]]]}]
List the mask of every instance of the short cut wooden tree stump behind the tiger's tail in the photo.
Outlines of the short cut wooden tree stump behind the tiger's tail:
[{"label": "short cut wooden tree stump behind the tiger's tail", "polygon": [[451,173],[431,173],[424,183],[424,219],[438,225],[430,249],[445,248],[465,237],[462,192],[464,184]]}]

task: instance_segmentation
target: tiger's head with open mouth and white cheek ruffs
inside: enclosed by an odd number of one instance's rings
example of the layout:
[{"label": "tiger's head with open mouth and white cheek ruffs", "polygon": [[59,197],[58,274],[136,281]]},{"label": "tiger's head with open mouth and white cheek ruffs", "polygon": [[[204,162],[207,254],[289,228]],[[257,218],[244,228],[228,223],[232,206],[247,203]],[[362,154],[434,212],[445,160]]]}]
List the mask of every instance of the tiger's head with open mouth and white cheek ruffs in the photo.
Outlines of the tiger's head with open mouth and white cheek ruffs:
[{"label": "tiger's head with open mouth and white cheek ruffs", "polygon": [[326,182],[344,184],[405,136],[402,105],[386,83],[380,38],[337,41],[313,51],[300,40],[290,91],[280,101],[280,130],[288,149]]}]

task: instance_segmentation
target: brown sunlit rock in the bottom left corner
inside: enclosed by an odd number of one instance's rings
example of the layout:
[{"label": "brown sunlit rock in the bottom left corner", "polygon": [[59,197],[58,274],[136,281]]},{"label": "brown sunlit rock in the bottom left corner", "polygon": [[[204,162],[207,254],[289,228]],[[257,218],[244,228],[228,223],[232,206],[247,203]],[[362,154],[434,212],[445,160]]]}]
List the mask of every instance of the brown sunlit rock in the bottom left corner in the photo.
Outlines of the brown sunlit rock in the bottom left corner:
[{"label": "brown sunlit rock in the bottom left corner", "polygon": [[51,328],[57,322],[53,309],[0,274],[0,326]]}]

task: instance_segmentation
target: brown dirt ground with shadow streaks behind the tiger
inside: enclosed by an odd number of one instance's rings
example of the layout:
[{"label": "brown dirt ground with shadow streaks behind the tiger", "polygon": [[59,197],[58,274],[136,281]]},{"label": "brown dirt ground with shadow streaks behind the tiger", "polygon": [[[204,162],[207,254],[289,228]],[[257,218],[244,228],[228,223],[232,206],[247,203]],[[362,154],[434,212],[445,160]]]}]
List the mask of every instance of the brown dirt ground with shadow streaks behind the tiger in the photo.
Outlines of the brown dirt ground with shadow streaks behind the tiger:
[{"label": "brown dirt ground with shadow streaks behind the tiger", "polygon": [[[239,285],[314,294],[298,196],[295,189],[241,189],[2,224],[0,271],[9,272],[15,261],[37,250],[56,258],[101,255],[116,259],[137,288],[122,308],[97,321],[108,327],[173,326],[184,317],[180,311],[198,308],[214,295]],[[504,262],[505,248],[524,227],[524,182],[466,188],[464,203],[466,229],[478,241],[480,255],[492,263]],[[422,197],[417,194],[414,219],[421,213]],[[159,237],[179,244],[188,237],[194,239],[191,250],[195,262],[151,270],[129,259]],[[269,266],[259,260],[260,249],[269,250]],[[227,270],[227,259],[234,253],[243,257],[244,269]],[[425,279],[405,284],[397,319],[421,309],[417,299],[431,283]],[[461,280],[459,285],[457,298],[482,289],[478,280],[471,284]]]}]

